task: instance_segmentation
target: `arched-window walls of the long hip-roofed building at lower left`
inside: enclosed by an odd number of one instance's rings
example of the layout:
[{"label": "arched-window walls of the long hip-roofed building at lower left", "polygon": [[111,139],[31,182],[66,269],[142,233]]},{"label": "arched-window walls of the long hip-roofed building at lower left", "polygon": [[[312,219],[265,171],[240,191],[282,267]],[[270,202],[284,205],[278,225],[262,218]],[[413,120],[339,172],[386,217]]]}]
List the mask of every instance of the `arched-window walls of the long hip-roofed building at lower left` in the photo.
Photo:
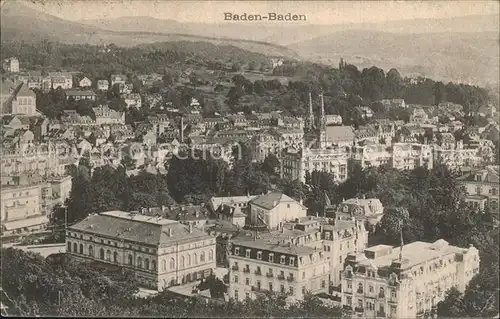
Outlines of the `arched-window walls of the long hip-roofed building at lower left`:
[{"label": "arched-window walls of the long hip-roofed building at lower left", "polygon": [[[67,253],[80,261],[98,261],[130,269],[141,285],[158,290],[201,279],[211,274],[216,267],[215,238],[158,247],[70,229],[67,231],[66,245]],[[89,255],[90,246],[93,256]],[[101,249],[104,258],[101,258]]]}]

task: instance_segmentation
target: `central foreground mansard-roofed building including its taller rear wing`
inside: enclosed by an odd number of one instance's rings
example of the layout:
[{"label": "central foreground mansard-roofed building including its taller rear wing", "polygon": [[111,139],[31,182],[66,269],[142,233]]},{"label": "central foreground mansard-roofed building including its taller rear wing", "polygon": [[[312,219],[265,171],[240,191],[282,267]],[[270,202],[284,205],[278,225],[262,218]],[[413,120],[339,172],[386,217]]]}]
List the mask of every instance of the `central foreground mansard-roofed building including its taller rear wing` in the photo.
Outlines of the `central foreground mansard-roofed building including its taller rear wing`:
[{"label": "central foreground mansard-roofed building including its taller rear wing", "polygon": [[[230,242],[230,297],[253,298],[267,290],[301,299],[305,291],[340,291],[345,257],[362,251],[368,234],[355,220],[309,216],[282,223],[270,232],[240,232]],[[302,267],[301,257],[307,261]]]}]

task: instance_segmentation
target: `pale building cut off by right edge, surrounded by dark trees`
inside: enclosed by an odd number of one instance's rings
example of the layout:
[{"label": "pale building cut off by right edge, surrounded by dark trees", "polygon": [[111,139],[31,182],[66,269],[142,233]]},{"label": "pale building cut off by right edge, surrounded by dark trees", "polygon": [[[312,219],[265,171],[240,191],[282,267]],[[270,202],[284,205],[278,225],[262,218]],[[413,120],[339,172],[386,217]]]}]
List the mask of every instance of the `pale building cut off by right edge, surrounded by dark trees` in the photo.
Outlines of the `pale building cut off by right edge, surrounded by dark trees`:
[{"label": "pale building cut off by right edge, surrounded by dark trees", "polygon": [[465,188],[465,201],[471,203],[478,210],[486,207],[498,213],[498,166],[487,166],[477,169],[458,178],[458,182]]}]

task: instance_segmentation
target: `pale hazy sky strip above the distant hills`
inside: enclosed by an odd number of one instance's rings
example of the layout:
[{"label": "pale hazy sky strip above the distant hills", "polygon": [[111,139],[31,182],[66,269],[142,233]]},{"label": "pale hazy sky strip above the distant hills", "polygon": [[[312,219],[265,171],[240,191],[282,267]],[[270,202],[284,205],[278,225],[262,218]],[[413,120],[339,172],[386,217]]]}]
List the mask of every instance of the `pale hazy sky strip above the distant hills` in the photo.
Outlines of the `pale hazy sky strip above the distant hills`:
[{"label": "pale hazy sky strip above the distant hills", "polygon": [[[21,0],[12,0],[21,1]],[[370,23],[406,19],[498,14],[497,1],[172,1],[30,0],[27,4],[78,21],[150,16],[180,22],[221,23],[225,12],[305,14],[310,24]]]}]

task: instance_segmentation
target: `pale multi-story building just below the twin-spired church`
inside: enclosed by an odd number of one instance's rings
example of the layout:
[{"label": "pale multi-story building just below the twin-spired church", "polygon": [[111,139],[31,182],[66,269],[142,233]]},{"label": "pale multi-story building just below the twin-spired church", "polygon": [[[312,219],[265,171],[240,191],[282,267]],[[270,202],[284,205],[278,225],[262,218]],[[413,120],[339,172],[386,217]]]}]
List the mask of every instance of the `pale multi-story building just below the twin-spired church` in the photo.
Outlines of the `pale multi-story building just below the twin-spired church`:
[{"label": "pale multi-story building just below the twin-spired church", "polygon": [[313,171],[334,175],[337,182],[347,179],[349,152],[344,148],[336,149],[288,149],[283,154],[282,176],[305,182],[306,174]]}]

